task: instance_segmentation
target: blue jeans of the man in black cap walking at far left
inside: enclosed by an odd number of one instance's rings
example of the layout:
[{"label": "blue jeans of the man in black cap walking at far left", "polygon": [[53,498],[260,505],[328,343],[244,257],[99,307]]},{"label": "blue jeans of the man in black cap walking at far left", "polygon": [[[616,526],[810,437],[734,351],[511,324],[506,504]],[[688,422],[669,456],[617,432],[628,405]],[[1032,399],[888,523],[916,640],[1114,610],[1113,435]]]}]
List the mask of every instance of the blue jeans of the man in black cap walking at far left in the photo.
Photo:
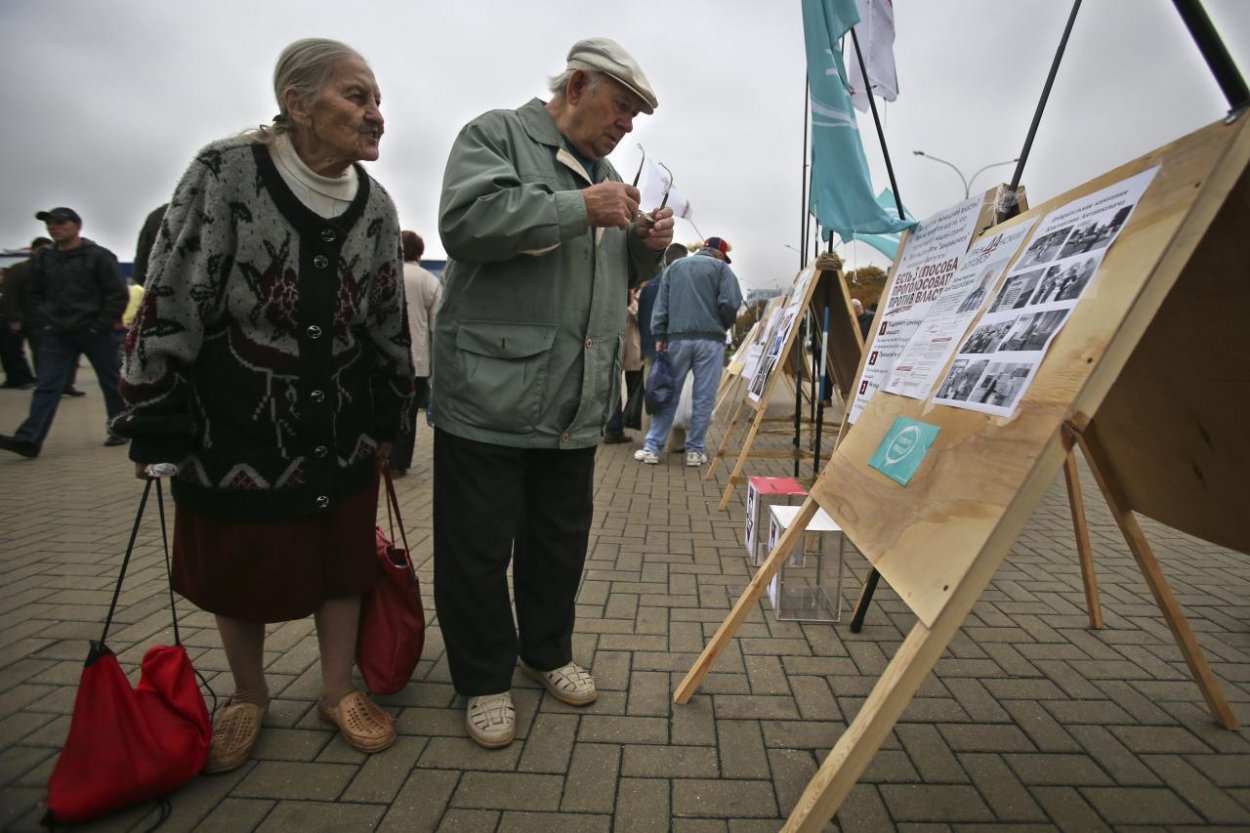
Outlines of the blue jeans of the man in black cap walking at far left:
[{"label": "blue jeans of the man in black cap walking at far left", "polygon": [[15,437],[32,443],[36,449],[44,447],[44,439],[52,427],[56,408],[61,404],[61,393],[69,384],[70,375],[78,366],[80,355],[85,355],[104,394],[104,406],[109,419],[121,413],[121,339],[120,330],[108,333],[56,333],[44,330],[39,339],[39,360],[36,364],[35,393],[30,398],[30,415],[18,429]]}]

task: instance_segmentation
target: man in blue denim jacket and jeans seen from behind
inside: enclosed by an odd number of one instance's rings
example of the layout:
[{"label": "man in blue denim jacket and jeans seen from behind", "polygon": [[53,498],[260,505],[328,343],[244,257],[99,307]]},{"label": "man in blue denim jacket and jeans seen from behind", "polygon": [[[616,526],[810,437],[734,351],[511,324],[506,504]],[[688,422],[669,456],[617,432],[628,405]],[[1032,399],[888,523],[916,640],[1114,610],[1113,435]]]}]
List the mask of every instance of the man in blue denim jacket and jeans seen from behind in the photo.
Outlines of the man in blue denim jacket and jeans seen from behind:
[{"label": "man in blue denim jacket and jeans seen from behind", "polygon": [[[725,369],[725,330],[738,319],[742,293],[729,268],[729,244],[708,238],[692,258],[675,261],[660,276],[660,291],[651,313],[655,349],[668,351],[672,379],[680,390],[686,373],[694,373],[690,430],[686,434],[686,465],[708,462],[705,442],[716,388]],[[651,415],[646,443],[634,453],[640,463],[655,465],[669,442],[678,404]]]}]

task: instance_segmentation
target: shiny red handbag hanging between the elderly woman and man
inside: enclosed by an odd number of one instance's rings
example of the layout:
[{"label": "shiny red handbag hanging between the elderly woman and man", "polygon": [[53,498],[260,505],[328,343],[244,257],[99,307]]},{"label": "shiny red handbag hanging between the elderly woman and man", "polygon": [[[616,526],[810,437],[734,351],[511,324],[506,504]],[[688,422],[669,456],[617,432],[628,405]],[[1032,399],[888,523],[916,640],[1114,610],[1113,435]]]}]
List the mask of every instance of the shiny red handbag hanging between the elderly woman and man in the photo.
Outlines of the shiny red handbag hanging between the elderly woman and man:
[{"label": "shiny red handbag hanging between the elderly woman and man", "polygon": [[[409,555],[408,534],[389,468],[382,467],[382,478],[386,480],[390,538],[378,528],[378,568],[382,578],[360,603],[356,665],[372,694],[394,694],[408,685],[421,659],[425,608],[421,607],[421,585]],[[392,543],[396,522],[402,548]]]}]

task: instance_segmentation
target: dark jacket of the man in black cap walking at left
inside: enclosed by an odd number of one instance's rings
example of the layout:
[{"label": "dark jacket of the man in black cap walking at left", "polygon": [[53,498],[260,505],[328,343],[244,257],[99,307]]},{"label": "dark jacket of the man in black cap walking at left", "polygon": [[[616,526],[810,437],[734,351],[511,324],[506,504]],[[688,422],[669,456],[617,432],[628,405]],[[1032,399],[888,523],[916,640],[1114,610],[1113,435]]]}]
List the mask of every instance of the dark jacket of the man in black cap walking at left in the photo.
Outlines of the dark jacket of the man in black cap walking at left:
[{"label": "dark jacket of the man in black cap walking at left", "polygon": [[106,333],[120,324],[130,294],[111,251],[84,239],[69,251],[41,249],[30,264],[26,291],[44,326],[82,334]]}]

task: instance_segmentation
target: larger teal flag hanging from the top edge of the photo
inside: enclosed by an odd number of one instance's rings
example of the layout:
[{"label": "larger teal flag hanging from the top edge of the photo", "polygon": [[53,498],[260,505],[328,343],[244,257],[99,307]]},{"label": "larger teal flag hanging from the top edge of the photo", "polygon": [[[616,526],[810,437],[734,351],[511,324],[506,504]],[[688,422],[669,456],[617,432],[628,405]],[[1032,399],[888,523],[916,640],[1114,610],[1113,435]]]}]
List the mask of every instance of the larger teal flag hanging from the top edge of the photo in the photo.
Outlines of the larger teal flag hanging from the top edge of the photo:
[{"label": "larger teal flag hanging from the top edge of the photo", "polygon": [[890,234],[915,225],[872,199],[868,160],[846,88],[839,45],[859,23],[855,0],[802,0],[811,94],[811,213],[842,240],[858,234]]}]

